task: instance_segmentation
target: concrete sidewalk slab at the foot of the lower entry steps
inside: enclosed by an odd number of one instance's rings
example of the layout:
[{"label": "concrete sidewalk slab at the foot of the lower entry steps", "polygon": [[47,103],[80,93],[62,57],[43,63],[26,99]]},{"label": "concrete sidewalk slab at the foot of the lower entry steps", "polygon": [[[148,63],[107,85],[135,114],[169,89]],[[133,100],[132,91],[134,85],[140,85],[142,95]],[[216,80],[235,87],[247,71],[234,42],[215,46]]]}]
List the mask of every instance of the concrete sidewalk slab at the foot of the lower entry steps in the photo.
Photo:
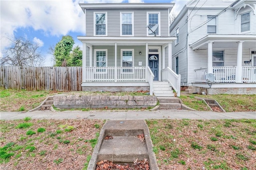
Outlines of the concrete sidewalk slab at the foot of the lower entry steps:
[{"label": "concrete sidewalk slab at the foot of the lower entry steps", "polygon": [[204,119],[190,111],[160,111],[167,119]]}]

